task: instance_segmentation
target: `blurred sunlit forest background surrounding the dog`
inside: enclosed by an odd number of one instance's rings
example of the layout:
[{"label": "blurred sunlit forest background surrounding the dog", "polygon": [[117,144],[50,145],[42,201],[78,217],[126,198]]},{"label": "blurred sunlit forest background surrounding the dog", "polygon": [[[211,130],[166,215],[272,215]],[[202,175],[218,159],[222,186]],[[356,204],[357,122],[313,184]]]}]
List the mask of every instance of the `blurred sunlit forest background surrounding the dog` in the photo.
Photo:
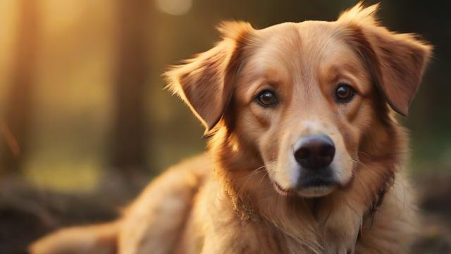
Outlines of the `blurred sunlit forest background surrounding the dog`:
[{"label": "blurred sunlit forest background surrounding the dog", "polygon": [[[254,28],[335,20],[357,1],[0,0],[0,253],[61,226],[103,222],[153,176],[204,150],[204,129],[163,90],[169,64]],[[364,1],[366,5],[376,1]],[[381,1],[391,30],[435,46],[407,119],[424,231],[451,253],[451,19],[447,1]]]}]

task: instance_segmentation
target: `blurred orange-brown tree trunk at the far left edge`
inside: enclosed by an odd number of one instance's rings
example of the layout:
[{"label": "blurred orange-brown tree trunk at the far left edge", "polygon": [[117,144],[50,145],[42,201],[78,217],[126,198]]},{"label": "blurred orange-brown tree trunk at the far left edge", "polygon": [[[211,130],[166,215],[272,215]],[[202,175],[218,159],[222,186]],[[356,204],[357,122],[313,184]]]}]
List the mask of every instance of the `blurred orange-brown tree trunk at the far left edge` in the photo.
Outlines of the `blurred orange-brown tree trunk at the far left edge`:
[{"label": "blurred orange-brown tree trunk at the far left edge", "polygon": [[0,173],[18,173],[27,155],[32,126],[36,58],[39,42],[39,1],[18,1],[18,27],[13,48],[11,88],[0,119]]}]

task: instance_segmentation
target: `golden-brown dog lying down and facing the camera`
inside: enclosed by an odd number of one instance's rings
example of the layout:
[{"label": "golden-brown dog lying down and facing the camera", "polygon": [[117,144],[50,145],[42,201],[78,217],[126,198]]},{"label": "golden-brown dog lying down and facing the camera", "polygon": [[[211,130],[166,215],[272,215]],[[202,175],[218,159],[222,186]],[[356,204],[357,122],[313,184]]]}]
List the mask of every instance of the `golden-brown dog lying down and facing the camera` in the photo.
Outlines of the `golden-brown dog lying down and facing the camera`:
[{"label": "golden-brown dog lying down and facing the camera", "polygon": [[166,72],[208,152],[168,169],[116,222],[57,231],[32,253],[406,253],[406,116],[432,47],[357,4],[333,22],[222,23]]}]

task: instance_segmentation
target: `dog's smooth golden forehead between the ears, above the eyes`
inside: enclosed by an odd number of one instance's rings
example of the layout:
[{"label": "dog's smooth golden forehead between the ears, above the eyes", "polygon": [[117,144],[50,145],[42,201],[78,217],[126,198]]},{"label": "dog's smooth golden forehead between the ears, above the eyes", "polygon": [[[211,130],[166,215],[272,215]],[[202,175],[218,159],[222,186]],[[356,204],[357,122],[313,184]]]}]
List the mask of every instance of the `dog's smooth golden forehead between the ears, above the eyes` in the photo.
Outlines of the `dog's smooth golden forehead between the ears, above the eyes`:
[{"label": "dog's smooth golden forehead between the ears, above the eyes", "polygon": [[335,22],[282,23],[257,31],[245,69],[272,79],[292,78],[292,73],[313,73],[330,64],[352,64],[356,55]]}]

